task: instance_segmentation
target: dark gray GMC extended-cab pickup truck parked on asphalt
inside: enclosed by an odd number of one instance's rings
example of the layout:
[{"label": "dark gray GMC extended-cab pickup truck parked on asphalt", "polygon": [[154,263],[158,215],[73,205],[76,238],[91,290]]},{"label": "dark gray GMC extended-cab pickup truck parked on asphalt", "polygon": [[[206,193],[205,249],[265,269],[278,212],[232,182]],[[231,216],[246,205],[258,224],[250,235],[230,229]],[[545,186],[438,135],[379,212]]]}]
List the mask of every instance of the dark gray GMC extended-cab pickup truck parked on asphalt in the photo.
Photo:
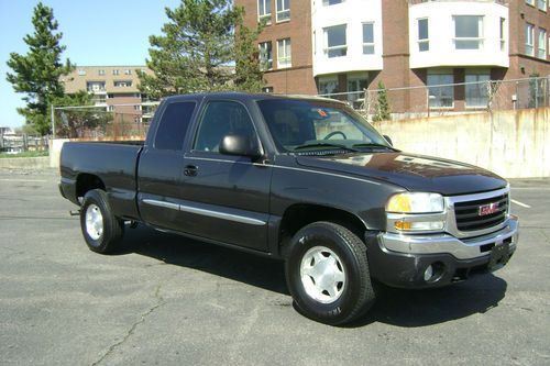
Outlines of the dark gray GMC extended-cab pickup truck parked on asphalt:
[{"label": "dark gray GMC extended-cab pickup truck parked on asphalt", "polygon": [[375,281],[450,285],[502,267],[518,240],[506,180],[405,154],[330,99],[170,97],[145,142],[67,143],[61,171],[90,249],[139,222],[282,258],[295,303],[329,324],[366,312]]}]

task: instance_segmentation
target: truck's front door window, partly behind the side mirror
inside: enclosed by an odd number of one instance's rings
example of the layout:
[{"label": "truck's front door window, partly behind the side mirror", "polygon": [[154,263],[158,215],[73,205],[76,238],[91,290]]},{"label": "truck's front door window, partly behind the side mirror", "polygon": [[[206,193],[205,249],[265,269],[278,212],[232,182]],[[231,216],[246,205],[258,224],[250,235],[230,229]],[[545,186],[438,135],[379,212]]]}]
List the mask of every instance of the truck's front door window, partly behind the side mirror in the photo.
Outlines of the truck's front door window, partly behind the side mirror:
[{"label": "truck's front door window, partly behind the side mirror", "polygon": [[228,134],[255,134],[249,112],[238,102],[212,101],[208,103],[202,115],[194,149],[217,153],[221,140]]}]

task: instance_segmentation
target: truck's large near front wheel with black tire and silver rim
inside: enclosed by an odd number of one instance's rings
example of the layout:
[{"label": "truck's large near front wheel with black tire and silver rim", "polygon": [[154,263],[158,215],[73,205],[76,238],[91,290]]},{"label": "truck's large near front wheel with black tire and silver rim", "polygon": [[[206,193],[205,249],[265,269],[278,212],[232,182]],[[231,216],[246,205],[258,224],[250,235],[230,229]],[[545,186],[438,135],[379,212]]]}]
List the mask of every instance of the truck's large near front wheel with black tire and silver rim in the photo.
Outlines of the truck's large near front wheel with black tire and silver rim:
[{"label": "truck's large near front wheel with black tire and silver rim", "polygon": [[[321,323],[343,325],[373,306],[375,293],[366,246],[350,230],[331,222],[315,222],[294,235],[287,253],[288,290],[304,315]],[[328,266],[328,271],[323,266]],[[327,273],[330,273],[328,277]],[[333,293],[321,291],[324,288]]]}]

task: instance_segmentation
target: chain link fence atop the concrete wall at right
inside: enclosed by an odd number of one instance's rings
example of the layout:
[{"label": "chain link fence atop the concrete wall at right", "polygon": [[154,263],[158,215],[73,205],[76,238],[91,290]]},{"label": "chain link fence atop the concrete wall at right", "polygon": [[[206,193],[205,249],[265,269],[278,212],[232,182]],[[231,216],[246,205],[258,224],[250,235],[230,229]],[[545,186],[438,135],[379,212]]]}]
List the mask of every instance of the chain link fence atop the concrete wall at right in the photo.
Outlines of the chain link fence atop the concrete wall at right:
[{"label": "chain link fence atop the concrete wall at right", "polygon": [[484,80],[320,95],[348,102],[370,121],[550,107],[550,77]]}]

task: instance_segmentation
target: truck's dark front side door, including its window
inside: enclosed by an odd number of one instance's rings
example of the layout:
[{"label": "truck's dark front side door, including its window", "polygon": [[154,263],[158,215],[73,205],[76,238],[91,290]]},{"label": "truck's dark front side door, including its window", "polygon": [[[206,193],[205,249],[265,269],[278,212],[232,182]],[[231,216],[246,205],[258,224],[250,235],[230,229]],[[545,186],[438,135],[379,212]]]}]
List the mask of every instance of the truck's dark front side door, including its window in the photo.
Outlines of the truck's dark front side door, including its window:
[{"label": "truck's dark front side door, including its window", "polygon": [[267,252],[272,168],[250,157],[219,153],[228,134],[258,138],[248,107],[237,100],[209,100],[194,131],[180,180],[179,210],[186,231]]}]

